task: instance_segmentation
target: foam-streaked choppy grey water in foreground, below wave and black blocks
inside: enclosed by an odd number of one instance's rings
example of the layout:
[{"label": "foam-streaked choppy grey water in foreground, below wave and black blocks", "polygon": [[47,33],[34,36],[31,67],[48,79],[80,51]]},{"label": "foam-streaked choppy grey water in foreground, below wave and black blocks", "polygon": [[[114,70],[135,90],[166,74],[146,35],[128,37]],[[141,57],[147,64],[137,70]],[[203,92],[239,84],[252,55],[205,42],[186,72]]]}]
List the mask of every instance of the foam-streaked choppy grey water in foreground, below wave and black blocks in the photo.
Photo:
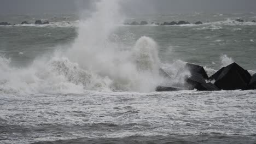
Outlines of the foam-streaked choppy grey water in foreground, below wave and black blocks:
[{"label": "foam-streaked choppy grey water in foreground, below wave and black blocks", "polygon": [[3,143],[253,143],[255,91],[1,96]]}]

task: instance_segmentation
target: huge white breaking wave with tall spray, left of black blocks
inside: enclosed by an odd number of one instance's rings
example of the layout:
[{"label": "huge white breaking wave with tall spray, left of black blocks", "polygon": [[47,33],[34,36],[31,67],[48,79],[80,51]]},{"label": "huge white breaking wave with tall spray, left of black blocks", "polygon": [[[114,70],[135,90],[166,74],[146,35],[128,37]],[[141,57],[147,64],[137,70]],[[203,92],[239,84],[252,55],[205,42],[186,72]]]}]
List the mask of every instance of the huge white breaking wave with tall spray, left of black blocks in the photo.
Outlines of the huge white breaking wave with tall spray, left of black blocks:
[{"label": "huge white breaking wave with tall spray, left of black blocks", "polygon": [[100,1],[96,7],[90,19],[79,21],[72,47],[50,60],[38,58],[27,68],[14,68],[10,59],[1,56],[0,92],[154,91],[160,82],[158,45],[142,37],[123,49],[109,39],[122,22],[118,1]]}]

